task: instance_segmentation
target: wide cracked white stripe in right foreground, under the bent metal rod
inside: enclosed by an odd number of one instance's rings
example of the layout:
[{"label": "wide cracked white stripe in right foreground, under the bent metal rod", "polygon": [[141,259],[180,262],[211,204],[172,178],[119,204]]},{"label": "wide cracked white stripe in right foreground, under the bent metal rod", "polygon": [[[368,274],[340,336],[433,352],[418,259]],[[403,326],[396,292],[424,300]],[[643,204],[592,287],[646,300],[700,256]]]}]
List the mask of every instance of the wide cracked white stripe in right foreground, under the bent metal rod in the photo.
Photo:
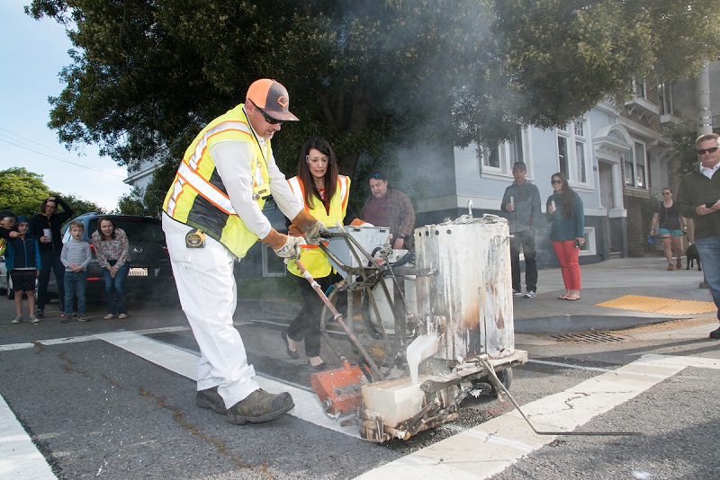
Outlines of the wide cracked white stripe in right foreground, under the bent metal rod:
[{"label": "wide cracked white stripe in right foreground, under the bent metal rod", "polygon": [[[574,431],[593,417],[676,375],[689,363],[716,368],[715,360],[646,355],[564,392],[525,404],[522,409],[538,431]],[[514,410],[357,478],[488,478],[554,439],[536,435]]]}]

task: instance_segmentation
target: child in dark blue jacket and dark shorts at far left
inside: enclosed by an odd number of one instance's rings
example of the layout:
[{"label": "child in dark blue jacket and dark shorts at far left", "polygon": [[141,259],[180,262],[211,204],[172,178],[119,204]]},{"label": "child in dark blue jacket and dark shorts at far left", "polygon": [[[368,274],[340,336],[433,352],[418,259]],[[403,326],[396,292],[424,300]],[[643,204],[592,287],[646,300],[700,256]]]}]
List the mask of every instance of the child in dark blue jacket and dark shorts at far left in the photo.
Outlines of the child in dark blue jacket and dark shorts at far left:
[{"label": "child in dark blue jacket and dark shorts at far left", "polygon": [[21,215],[17,218],[18,236],[8,240],[5,265],[10,271],[15,292],[14,324],[23,323],[23,292],[28,297],[28,313],[33,324],[40,322],[35,312],[35,279],[40,276],[40,250],[38,239],[28,232],[30,219]]}]

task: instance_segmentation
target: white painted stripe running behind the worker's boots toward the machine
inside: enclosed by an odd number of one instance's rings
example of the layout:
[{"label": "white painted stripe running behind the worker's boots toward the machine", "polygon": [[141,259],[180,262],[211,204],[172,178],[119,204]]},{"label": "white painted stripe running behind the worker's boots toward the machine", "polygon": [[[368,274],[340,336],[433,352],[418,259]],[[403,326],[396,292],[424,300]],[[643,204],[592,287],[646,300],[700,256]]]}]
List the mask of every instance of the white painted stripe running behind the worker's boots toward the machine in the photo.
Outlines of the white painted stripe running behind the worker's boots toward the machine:
[{"label": "white painted stripe running behind the worker's boots toward the machine", "polygon": [[[199,357],[189,351],[180,350],[167,343],[156,342],[133,332],[103,333],[97,335],[97,337],[123,350],[130,351],[130,353],[142,359],[174,371],[178,375],[197,380],[197,361]],[[339,431],[351,437],[360,438],[360,432],[356,425],[341,427],[338,421],[330,419],[322,411],[320,400],[314,393],[270,378],[257,376],[255,379],[260,387],[270,393],[290,392],[295,402],[295,408],[289,413],[294,417],[332,431]]]}]

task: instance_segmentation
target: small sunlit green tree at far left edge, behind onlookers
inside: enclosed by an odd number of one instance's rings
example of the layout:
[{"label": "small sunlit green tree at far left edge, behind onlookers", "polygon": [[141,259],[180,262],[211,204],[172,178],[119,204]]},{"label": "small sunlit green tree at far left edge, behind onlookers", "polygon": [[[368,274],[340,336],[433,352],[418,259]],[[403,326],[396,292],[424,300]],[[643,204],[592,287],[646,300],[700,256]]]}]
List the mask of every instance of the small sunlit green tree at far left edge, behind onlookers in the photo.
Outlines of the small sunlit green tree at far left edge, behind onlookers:
[{"label": "small sunlit green tree at far left edge, behind onlookers", "polygon": [[38,173],[21,167],[0,171],[0,209],[10,209],[15,215],[31,217],[49,195],[49,188]]}]

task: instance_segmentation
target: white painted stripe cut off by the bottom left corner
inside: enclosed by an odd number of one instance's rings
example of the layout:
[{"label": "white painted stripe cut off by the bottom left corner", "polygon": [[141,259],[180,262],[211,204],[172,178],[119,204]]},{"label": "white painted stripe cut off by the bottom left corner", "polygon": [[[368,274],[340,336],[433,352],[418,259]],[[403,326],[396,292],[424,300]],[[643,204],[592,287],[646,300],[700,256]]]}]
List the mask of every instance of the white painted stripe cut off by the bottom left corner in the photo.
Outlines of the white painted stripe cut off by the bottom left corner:
[{"label": "white painted stripe cut off by the bottom left corner", "polygon": [[0,478],[14,480],[57,478],[2,396],[0,396]]}]

